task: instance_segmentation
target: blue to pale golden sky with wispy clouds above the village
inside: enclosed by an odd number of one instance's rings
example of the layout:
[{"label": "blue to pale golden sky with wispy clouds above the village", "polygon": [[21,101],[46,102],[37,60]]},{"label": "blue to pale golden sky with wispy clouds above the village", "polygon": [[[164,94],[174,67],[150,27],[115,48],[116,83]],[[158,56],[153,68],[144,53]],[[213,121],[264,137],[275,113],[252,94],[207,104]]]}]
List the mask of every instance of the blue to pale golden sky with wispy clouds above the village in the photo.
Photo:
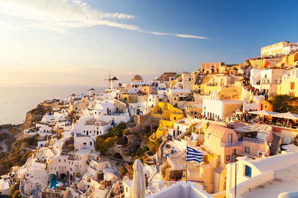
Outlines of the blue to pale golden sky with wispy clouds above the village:
[{"label": "blue to pale golden sky with wispy clouds above the village", "polygon": [[[296,12],[272,0],[0,0],[0,85],[107,86],[139,74],[244,63],[298,42]],[[287,1],[287,8],[298,2]],[[284,14],[282,13],[284,12]]]}]

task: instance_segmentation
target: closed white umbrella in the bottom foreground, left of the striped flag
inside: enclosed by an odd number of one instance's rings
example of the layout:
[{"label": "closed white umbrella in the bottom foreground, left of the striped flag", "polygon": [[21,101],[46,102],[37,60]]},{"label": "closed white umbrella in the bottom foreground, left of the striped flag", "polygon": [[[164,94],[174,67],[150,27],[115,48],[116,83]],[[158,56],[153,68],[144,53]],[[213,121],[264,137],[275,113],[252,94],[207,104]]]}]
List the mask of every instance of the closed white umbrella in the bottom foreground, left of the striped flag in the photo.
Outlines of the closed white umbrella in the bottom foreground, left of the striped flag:
[{"label": "closed white umbrella in the bottom foreground, left of the striped flag", "polygon": [[146,181],[141,160],[137,159],[133,165],[133,198],[145,198]]}]

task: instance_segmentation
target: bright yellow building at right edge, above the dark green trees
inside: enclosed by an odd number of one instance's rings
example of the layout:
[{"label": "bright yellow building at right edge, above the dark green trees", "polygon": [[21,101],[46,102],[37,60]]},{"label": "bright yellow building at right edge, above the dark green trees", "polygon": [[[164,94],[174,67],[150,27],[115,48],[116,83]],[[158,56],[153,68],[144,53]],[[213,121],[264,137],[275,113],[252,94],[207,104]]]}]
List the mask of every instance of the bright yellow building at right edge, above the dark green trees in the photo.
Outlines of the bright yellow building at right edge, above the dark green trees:
[{"label": "bright yellow building at right edge, above the dark green trees", "polygon": [[277,94],[298,96],[298,68],[282,76],[282,83],[277,85]]}]

